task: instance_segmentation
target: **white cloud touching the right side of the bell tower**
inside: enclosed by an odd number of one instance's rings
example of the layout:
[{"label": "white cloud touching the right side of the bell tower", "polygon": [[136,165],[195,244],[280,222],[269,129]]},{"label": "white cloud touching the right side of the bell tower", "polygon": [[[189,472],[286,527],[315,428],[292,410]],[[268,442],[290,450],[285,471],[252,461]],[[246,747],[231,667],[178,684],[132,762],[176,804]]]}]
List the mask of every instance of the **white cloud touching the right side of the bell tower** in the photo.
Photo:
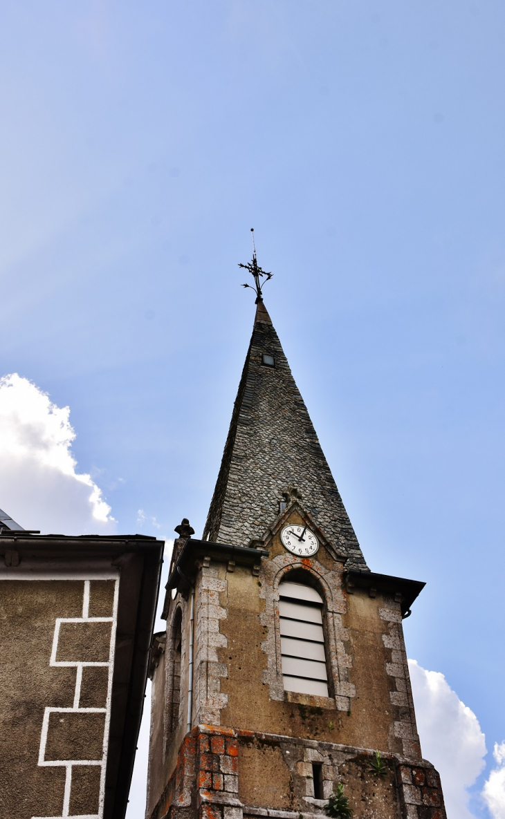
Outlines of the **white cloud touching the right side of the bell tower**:
[{"label": "white cloud touching the right side of the bell tower", "polygon": [[467,789],[485,767],[485,735],[444,674],[425,671],[416,660],[408,666],[423,756],[439,771],[448,819],[474,819]]}]

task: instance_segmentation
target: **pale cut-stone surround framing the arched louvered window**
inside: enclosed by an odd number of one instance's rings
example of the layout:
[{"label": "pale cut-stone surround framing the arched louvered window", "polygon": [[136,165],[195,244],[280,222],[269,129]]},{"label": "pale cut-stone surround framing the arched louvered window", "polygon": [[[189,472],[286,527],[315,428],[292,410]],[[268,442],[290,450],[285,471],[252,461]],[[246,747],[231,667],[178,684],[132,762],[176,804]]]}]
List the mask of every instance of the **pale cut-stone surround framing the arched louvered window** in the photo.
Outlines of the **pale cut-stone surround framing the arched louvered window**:
[{"label": "pale cut-stone surround framing the arched louvered window", "polygon": [[[293,505],[290,507],[292,511]],[[282,516],[280,516],[282,517]],[[280,523],[282,525],[282,523]],[[277,531],[278,531],[277,527]],[[325,600],[324,628],[325,643],[330,665],[330,697],[298,695],[284,691],[280,655],[279,584],[293,570],[302,570],[312,578]],[[262,651],[267,657],[267,667],[263,671],[263,682],[269,686],[271,699],[314,704],[323,708],[337,708],[348,711],[350,701],[356,691],[348,679],[352,660],[345,650],[348,631],[342,625],[342,615],[347,612],[346,598],[342,588],[343,563],[335,563],[330,570],[316,559],[300,560],[286,552],[271,560],[262,561],[260,569],[260,597],[265,600],[265,611],[261,614],[262,626],[266,628],[266,638],[262,641]]]}]

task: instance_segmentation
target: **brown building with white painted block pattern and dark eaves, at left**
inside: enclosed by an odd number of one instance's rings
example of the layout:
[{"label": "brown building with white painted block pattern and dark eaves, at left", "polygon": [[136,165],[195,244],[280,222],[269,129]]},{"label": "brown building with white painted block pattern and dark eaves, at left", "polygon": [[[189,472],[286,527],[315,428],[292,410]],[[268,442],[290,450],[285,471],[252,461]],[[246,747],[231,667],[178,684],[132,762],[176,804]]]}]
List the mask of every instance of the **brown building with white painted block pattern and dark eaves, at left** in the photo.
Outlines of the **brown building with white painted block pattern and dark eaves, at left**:
[{"label": "brown building with white painted block pattern and dark eaves, at left", "polygon": [[0,510],[2,819],[124,819],[162,551]]}]

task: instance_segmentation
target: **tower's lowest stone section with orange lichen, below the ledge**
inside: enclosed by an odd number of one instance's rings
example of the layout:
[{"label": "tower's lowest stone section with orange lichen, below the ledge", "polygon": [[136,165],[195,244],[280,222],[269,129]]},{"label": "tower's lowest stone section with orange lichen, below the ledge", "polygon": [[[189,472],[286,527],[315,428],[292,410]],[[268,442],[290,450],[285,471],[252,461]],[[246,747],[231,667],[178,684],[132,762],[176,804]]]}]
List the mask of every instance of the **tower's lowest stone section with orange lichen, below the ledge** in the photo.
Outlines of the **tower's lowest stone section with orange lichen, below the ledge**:
[{"label": "tower's lowest stone section with orange lichen, below the ledge", "polygon": [[[430,762],[291,736],[195,726],[149,819],[321,819],[338,782],[355,819],[446,819],[439,776]],[[324,799],[314,797],[321,765]],[[275,774],[275,775],[274,775]]]}]

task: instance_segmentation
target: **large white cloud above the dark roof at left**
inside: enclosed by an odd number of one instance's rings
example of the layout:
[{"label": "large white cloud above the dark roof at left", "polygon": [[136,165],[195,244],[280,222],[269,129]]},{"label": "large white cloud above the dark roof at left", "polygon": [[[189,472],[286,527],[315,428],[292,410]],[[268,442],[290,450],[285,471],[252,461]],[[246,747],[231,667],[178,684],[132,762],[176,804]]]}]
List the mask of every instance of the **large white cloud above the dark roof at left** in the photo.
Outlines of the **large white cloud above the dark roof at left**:
[{"label": "large white cloud above the dark roof at left", "polygon": [[25,529],[115,532],[102,491],[76,471],[69,416],[27,378],[0,378],[0,508]]}]

